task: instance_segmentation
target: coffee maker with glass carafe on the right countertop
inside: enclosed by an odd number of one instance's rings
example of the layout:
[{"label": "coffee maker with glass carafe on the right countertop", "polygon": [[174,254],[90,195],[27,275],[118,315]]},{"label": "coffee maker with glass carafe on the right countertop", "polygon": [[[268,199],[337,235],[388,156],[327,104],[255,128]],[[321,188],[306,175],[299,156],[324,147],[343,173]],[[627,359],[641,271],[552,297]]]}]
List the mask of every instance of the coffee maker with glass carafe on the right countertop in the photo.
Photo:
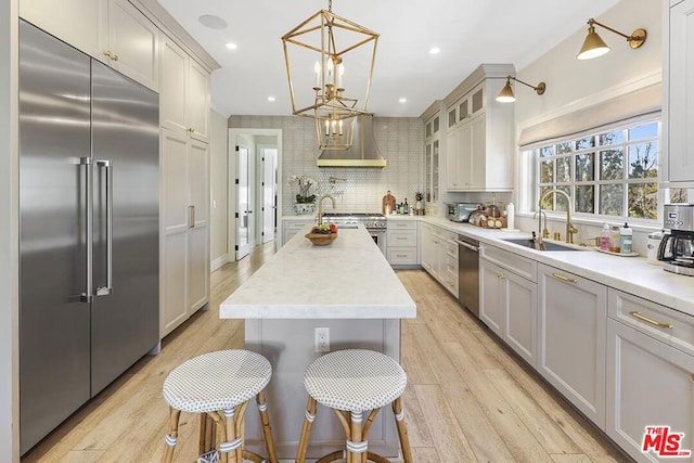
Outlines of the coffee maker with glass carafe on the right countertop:
[{"label": "coffee maker with glass carafe on the right countertop", "polygon": [[694,204],[666,204],[664,228],[658,248],[658,260],[664,269],[694,276]]}]

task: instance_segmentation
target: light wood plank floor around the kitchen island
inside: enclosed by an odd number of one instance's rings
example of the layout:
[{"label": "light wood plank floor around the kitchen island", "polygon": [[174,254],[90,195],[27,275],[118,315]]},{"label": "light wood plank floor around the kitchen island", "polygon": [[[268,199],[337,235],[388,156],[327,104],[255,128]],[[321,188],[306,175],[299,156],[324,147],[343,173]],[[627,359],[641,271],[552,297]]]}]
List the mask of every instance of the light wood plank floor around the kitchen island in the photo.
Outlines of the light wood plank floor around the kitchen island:
[{"label": "light wood plank floor around the kitchen island", "polygon": [[[243,347],[243,322],[219,320],[219,304],[273,248],[256,247],[215,271],[209,310],[167,336],[158,356],[140,360],[23,461],[159,461],[168,416],[164,378],[190,357]],[[417,318],[402,323],[404,407],[416,463],[628,461],[426,272],[398,275],[417,305]],[[196,439],[196,415],[183,413],[176,462],[194,460]]]}]

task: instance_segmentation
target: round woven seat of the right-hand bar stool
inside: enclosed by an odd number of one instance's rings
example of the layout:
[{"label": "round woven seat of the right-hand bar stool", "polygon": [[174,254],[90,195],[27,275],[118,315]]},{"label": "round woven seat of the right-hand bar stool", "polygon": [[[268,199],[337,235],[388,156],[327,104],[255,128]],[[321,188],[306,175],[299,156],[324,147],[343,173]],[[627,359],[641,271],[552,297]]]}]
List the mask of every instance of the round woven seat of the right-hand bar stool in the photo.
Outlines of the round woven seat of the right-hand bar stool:
[{"label": "round woven seat of the right-hand bar stool", "polygon": [[304,375],[306,391],[331,409],[349,412],[380,409],[404,391],[402,366],[373,350],[337,350],[313,361]]}]

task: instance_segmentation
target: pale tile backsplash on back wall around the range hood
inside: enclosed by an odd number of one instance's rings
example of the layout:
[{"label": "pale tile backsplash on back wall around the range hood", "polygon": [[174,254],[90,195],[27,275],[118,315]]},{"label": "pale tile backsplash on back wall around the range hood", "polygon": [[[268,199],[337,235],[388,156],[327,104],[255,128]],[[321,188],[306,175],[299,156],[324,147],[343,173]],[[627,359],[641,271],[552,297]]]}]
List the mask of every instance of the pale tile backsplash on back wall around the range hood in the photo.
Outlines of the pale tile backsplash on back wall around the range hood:
[{"label": "pale tile backsplash on back wall around the range hood", "polygon": [[[317,195],[332,194],[343,213],[380,213],[388,190],[398,202],[414,205],[414,193],[424,189],[424,125],[415,117],[374,117],[373,129],[384,168],[318,168],[316,123],[298,116],[231,116],[230,128],[282,129],[282,215],[294,215],[297,187],[290,176],[318,181]],[[338,180],[331,182],[330,178]],[[344,179],[344,180],[343,180]]]}]

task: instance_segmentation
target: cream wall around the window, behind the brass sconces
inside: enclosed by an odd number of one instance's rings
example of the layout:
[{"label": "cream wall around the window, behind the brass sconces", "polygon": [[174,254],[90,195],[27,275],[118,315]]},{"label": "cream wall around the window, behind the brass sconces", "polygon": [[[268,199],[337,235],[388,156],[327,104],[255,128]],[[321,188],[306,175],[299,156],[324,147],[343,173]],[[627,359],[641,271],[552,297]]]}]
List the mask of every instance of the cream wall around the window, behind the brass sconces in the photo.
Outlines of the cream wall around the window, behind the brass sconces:
[{"label": "cream wall around the window, behind the brass sconces", "polygon": [[[586,38],[588,30],[586,22],[590,16],[577,18],[576,25],[567,25],[567,27],[576,27],[576,34],[557,43],[548,53],[517,73],[519,79],[532,85],[544,81],[547,91],[543,95],[538,97],[531,89],[523,86],[515,87],[516,134],[519,134],[524,127],[604,101],[611,94],[625,91],[625,89],[633,89],[654,80],[660,80],[663,62],[661,8],[661,1],[622,0],[604,14],[595,17],[596,21],[625,34],[631,34],[639,27],[645,28],[648,34],[646,42],[641,48],[632,50],[620,36],[596,27],[595,30],[612,48],[612,51],[595,60],[576,60],[576,54]],[[516,154],[516,172],[523,167],[519,162],[519,156]],[[513,195],[513,201],[516,204],[517,187],[516,181],[516,192]],[[518,226],[524,230],[537,228],[537,223],[528,216],[518,217]],[[578,242],[600,233],[599,226],[579,223],[578,228]],[[564,237],[563,220],[550,221],[549,229],[551,233],[561,231],[562,237]],[[645,253],[646,232],[643,229],[634,232],[635,252]]]}]

